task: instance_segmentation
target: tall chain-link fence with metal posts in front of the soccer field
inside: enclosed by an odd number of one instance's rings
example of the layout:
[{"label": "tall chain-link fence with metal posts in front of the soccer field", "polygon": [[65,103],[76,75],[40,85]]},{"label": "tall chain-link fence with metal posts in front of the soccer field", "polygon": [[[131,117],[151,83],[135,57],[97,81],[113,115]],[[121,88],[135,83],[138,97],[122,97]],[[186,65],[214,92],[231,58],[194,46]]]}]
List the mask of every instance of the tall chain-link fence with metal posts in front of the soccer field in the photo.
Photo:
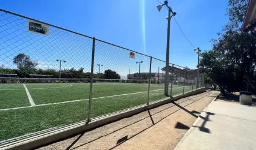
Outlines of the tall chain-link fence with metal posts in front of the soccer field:
[{"label": "tall chain-link fence with metal posts in front of the soccer field", "polygon": [[[35,30],[31,32],[31,29]],[[0,10],[0,145],[204,87],[201,73]],[[164,94],[167,83],[168,94]]]}]

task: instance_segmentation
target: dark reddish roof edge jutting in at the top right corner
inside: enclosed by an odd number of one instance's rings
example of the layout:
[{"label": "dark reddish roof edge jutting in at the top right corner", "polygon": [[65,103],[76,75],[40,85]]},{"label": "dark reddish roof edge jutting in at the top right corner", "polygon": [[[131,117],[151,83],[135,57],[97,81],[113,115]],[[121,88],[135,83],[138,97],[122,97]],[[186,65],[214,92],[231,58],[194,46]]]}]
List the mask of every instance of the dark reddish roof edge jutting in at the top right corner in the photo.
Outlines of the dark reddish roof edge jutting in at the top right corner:
[{"label": "dark reddish roof edge jutting in at the top right corner", "polygon": [[242,31],[249,31],[256,26],[256,0],[249,0]]}]

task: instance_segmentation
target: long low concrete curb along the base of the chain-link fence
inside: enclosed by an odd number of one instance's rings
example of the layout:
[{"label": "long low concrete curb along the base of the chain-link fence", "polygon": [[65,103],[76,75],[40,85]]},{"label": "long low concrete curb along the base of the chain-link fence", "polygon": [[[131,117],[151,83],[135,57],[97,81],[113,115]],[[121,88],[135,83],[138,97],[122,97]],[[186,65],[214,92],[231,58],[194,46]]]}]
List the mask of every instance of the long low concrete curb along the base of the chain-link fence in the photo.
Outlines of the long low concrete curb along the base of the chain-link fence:
[{"label": "long low concrete curb along the base of the chain-link fence", "polygon": [[173,97],[173,98],[167,98],[164,100],[155,101],[154,103],[150,103],[148,106],[146,104],[142,104],[137,107],[132,107],[130,109],[126,109],[126,110],[111,113],[105,116],[101,116],[99,118],[92,119],[92,122],[81,121],[76,124],[66,125],[64,127],[56,128],[55,130],[36,134],[35,136],[5,143],[0,146],[0,149],[39,148],[40,146],[48,145],[49,143],[67,139],[68,137],[72,137],[77,134],[84,133],[85,131],[88,131],[88,130],[93,130],[95,128],[101,127],[102,125],[110,124],[111,122],[136,115],[137,113],[144,112],[145,110],[154,109],[155,107],[179,100],[184,97],[200,94],[202,92],[205,92],[205,88],[186,92],[184,94],[177,95],[176,97]]}]

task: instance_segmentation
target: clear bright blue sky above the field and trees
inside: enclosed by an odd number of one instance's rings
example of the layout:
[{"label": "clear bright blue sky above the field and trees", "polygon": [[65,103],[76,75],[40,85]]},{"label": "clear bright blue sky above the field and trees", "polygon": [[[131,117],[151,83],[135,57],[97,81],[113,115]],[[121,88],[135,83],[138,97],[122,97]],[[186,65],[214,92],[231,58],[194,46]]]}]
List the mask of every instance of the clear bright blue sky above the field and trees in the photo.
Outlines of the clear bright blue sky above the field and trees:
[{"label": "clear bright blue sky above the field and trees", "polygon": [[[168,11],[163,7],[158,12],[158,4],[157,0],[3,0],[0,8],[165,60]],[[176,21],[193,45],[172,19],[170,62],[196,68],[198,59],[193,49],[211,49],[210,40],[217,38],[217,32],[228,22],[227,5],[228,0],[169,0]],[[0,31],[4,31],[0,34],[0,43],[4,43],[0,46],[0,64],[11,68],[13,56],[24,52],[39,62],[39,68],[57,69],[59,62],[52,60],[66,59],[63,68],[90,71],[92,39],[52,27],[47,37],[28,35],[27,19],[10,16],[0,13]],[[95,47],[95,72],[99,69],[96,64],[102,64],[102,70],[110,68],[125,76],[129,69],[138,72],[137,61],[143,61],[141,72],[148,72],[150,58],[146,56],[136,54],[136,59],[131,59],[128,51],[101,41],[96,41]],[[152,72],[158,67],[164,67],[164,62],[152,59]]]}]

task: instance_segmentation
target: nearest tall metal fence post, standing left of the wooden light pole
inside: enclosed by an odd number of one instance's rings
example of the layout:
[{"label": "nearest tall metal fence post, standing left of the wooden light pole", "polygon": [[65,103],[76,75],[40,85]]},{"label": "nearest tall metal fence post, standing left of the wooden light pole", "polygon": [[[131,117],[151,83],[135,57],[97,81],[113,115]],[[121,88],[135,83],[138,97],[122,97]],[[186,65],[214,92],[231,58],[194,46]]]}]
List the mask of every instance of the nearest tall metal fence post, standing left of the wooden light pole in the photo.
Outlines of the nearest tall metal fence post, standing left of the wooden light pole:
[{"label": "nearest tall metal fence post, standing left of the wooden light pole", "polygon": [[91,121],[91,116],[92,116],[92,85],[93,85],[94,54],[95,54],[95,38],[93,37],[93,40],[92,40],[92,64],[91,64],[91,76],[90,76],[90,95],[89,95],[88,122]]}]

